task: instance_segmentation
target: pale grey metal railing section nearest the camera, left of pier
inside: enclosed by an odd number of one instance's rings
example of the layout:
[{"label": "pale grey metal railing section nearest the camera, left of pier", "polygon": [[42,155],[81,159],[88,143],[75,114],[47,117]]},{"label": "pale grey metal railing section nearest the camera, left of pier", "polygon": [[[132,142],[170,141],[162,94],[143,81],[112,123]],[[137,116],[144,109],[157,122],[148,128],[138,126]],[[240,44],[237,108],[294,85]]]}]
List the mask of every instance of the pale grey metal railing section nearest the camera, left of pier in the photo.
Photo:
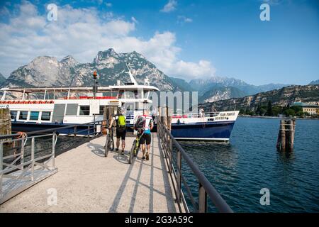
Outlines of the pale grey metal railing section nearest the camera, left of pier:
[{"label": "pale grey metal railing section nearest the camera, left of pier", "polygon": [[[52,141],[50,153],[35,156],[35,139],[49,137]],[[30,160],[25,159],[26,143],[30,141]],[[18,153],[13,153],[4,156],[4,145],[13,144],[11,150],[18,150]],[[0,140],[0,204],[15,196],[24,189],[35,184],[40,179],[48,177],[57,172],[55,168],[55,145],[57,143],[57,135],[55,133],[47,135],[34,135],[24,137]],[[19,144],[15,146],[15,144]],[[47,172],[39,172],[39,170],[48,170]],[[35,174],[35,172],[37,174]],[[8,181],[8,179],[10,179]],[[7,180],[5,182],[5,180]],[[5,189],[4,187],[5,184]]]}]

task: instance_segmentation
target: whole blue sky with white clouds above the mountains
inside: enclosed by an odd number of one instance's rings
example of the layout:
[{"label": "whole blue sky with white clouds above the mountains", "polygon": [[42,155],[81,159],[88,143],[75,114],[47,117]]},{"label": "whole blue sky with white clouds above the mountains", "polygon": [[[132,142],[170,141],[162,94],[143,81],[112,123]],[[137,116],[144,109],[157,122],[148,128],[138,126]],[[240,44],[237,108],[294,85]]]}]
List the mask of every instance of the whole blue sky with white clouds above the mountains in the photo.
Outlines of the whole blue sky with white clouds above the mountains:
[{"label": "whole blue sky with white clouds above the mountains", "polygon": [[[260,19],[264,3],[269,21]],[[56,21],[47,18],[49,4],[57,6]],[[319,1],[1,0],[5,77],[37,56],[92,62],[108,48],[140,52],[186,81],[308,84],[319,79]]]}]

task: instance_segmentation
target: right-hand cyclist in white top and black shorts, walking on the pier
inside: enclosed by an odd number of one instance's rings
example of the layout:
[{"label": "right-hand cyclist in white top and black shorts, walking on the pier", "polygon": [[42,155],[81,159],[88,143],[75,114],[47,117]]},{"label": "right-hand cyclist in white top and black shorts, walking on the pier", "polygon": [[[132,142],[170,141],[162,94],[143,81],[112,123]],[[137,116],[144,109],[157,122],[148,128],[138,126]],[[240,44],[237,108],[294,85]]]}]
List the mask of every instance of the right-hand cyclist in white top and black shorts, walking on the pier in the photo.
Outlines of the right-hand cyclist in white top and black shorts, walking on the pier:
[{"label": "right-hand cyclist in white top and black shorts, walking on the pier", "polygon": [[[150,143],[151,143],[151,130],[154,127],[152,116],[148,114],[147,110],[143,111],[142,116],[138,116],[138,121],[143,123],[143,130],[144,134],[140,138],[140,145],[142,145],[142,153],[143,153],[143,160],[149,160],[150,158]],[[145,149],[145,143],[146,143],[146,149]],[[146,153],[145,153],[146,150]]]}]

